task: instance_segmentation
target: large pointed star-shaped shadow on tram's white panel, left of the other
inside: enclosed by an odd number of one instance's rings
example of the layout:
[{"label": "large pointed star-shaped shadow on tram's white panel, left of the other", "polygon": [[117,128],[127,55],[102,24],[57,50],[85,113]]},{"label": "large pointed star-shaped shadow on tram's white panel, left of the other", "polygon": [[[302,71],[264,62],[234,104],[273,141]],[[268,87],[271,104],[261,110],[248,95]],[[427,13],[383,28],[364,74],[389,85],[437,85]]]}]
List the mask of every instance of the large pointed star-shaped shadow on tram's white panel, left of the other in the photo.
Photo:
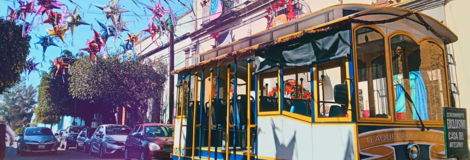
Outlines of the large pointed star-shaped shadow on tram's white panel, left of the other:
[{"label": "large pointed star-shaped shadow on tram's white panel, left of the other", "polygon": [[271,126],[273,128],[274,134],[274,145],[276,147],[276,157],[275,158],[282,158],[287,160],[294,159],[294,149],[296,144],[296,131],[294,131],[294,136],[290,138],[290,142],[287,145],[281,144],[279,141],[279,137],[276,134],[276,131],[282,132],[282,130],[278,129],[275,125],[273,120],[271,119]]}]

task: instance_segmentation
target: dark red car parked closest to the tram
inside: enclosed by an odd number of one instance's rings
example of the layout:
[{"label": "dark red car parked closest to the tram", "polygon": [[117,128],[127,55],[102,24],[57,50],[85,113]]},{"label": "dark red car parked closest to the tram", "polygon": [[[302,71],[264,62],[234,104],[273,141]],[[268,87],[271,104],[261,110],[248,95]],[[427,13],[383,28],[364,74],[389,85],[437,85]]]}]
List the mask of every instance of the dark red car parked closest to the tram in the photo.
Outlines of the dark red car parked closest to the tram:
[{"label": "dark red car parked closest to the tram", "polygon": [[174,126],[147,123],[134,127],[125,141],[124,160],[171,160]]}]

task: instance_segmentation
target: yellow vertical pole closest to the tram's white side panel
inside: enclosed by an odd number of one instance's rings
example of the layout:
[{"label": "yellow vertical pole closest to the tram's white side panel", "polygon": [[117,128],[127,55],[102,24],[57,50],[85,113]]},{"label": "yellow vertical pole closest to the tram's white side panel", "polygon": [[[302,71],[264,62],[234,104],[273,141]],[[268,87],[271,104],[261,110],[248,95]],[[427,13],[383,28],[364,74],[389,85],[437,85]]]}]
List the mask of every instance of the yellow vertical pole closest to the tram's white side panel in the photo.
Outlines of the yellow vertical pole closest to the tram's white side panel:
[{"label": "yellow vertical pole closest to the tram's white side panel", "polygon": [[251,58],[248,58],[247,60],[248,62],[248,68],[247,68],[247,72],[248,72],[248,82],[247,82],[247,87],[246,87],[246,97],[248,98],[248,109],[247,109],[247,122],[248,122],[248,128],[246,129],[246,132],[247,132],[247,142],[246,142],[246,160],[251,160],[251,119],[250,119],[250,114],[251,114],[251,95],[250,95],[250,92],[251,92]]}]

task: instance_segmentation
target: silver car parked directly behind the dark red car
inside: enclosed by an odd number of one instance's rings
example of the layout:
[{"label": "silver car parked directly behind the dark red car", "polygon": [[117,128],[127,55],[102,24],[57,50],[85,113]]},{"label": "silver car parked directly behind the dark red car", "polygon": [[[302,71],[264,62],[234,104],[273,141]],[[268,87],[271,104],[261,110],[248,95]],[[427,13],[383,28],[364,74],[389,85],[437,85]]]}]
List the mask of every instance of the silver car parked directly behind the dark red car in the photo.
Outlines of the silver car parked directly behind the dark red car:
[{"label": "silver car parked directly behind the dark red car", "polygon": [[99,153],[100,158],[124,151],[125,139],[131,128],[125,125],[104,124],[98,127],[90,140],[90,155]]}]

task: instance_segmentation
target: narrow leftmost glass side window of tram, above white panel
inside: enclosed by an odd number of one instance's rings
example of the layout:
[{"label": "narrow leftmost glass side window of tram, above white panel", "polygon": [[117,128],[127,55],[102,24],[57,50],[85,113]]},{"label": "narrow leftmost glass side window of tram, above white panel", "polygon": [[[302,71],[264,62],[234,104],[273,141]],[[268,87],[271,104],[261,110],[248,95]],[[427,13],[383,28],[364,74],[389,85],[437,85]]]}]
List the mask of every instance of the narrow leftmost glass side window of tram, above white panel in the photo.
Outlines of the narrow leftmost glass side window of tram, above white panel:
[{"label": "narrow leftmost glass side window of tram, above white panel", "polygon": [[262,74],[259,81],[259,112],[279,111],[277,71]]}]

